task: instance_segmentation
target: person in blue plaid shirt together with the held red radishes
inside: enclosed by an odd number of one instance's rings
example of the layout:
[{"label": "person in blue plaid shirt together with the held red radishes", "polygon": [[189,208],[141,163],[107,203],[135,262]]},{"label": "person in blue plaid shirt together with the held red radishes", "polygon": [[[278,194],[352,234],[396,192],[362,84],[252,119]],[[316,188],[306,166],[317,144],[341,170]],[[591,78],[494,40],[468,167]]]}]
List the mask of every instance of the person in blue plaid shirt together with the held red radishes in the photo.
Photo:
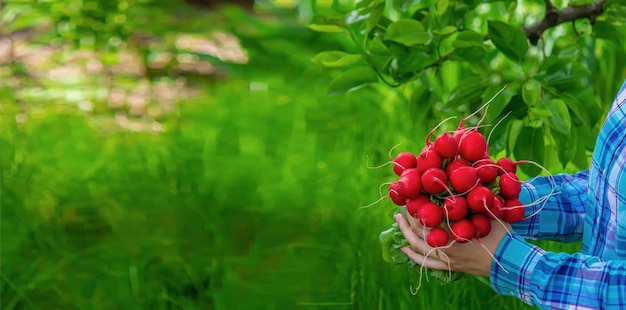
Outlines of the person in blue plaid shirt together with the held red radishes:
[{"label": "person in blue plaid shirt together with the held red radishes", "polygon": [[[557,175],[544,169],[546,176],[520,181],[517,165],[532,162],[494,162],[478,127],[463,128],[462,120],[434,143],[427,138],[417,156],[390,156],[400,178],[384,197],[397,210],[396,222],[380,234],[383,259],[420,265],[420,284],[424,272],[443,284],[465,274],[488,276],[488,283],[477,279],[542,309],[624,309],[626,193],[619,189],[626,187],[626,81],[589,169]],[[581,241],[582,248],[546,251],[526,239]]]}]

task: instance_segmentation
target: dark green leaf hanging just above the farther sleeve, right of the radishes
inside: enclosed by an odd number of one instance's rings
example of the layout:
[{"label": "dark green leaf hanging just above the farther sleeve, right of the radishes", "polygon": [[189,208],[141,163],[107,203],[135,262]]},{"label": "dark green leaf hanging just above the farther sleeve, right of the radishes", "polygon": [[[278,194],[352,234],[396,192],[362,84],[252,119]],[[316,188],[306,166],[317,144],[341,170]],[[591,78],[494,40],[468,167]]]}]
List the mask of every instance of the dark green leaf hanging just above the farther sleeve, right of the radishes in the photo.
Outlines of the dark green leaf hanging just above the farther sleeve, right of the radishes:
[{"label": "dark green leaf hanging just above the farther sleeve, right of the radishes", "polygon": [[[518,139],[513,148],[516,160],[532,160],[542,165],[544,162],[545,142],[543,128],[525,126],[519,131]],[[536,176],[541,168],[535,165],[520,165],[519,168],[528,176]]]}]

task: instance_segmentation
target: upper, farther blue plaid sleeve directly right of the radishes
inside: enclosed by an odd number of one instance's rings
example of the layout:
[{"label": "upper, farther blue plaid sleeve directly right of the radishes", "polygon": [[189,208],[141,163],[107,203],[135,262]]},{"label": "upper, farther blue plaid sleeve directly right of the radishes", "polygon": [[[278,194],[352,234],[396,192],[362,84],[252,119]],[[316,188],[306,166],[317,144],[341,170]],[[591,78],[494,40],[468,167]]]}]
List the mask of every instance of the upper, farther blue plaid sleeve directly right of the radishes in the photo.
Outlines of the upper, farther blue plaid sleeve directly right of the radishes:
[{"label": "upper, farther blue plaid sleeve directly right of the radishes", "polygon": [[[589,171],[536,177],[522,186],[520,201],[528,219],[513,223],[513,230],[528,239],[579,241],[584,226]],[[547,199],[546,199],[547,198]]]}]

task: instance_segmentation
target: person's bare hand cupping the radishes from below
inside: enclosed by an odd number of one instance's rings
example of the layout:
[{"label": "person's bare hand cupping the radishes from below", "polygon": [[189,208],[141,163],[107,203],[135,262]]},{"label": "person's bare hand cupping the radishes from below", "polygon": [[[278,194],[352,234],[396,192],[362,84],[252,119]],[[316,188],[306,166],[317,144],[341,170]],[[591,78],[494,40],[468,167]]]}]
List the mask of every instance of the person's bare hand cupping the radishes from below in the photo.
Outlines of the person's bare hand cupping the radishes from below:
[{"label": "person's bare hand cupping the radishes from below", "polygon": [[[404,238],[411,244],[411,248],[401,250],[415,263],[429,269],[460,271],[476,276],[489,277],[492,254],[502,238],[511,231],[508,223],[491,220],[491,232],[480,241],[474,238],[466,243],[452,242],[451,245],[433,250],[425,238],[429,229],[416,218],[410,217],[408,222],[401,214],[396,214],[394,218]],[[439,251],[439,255],[435,251]]]}]

